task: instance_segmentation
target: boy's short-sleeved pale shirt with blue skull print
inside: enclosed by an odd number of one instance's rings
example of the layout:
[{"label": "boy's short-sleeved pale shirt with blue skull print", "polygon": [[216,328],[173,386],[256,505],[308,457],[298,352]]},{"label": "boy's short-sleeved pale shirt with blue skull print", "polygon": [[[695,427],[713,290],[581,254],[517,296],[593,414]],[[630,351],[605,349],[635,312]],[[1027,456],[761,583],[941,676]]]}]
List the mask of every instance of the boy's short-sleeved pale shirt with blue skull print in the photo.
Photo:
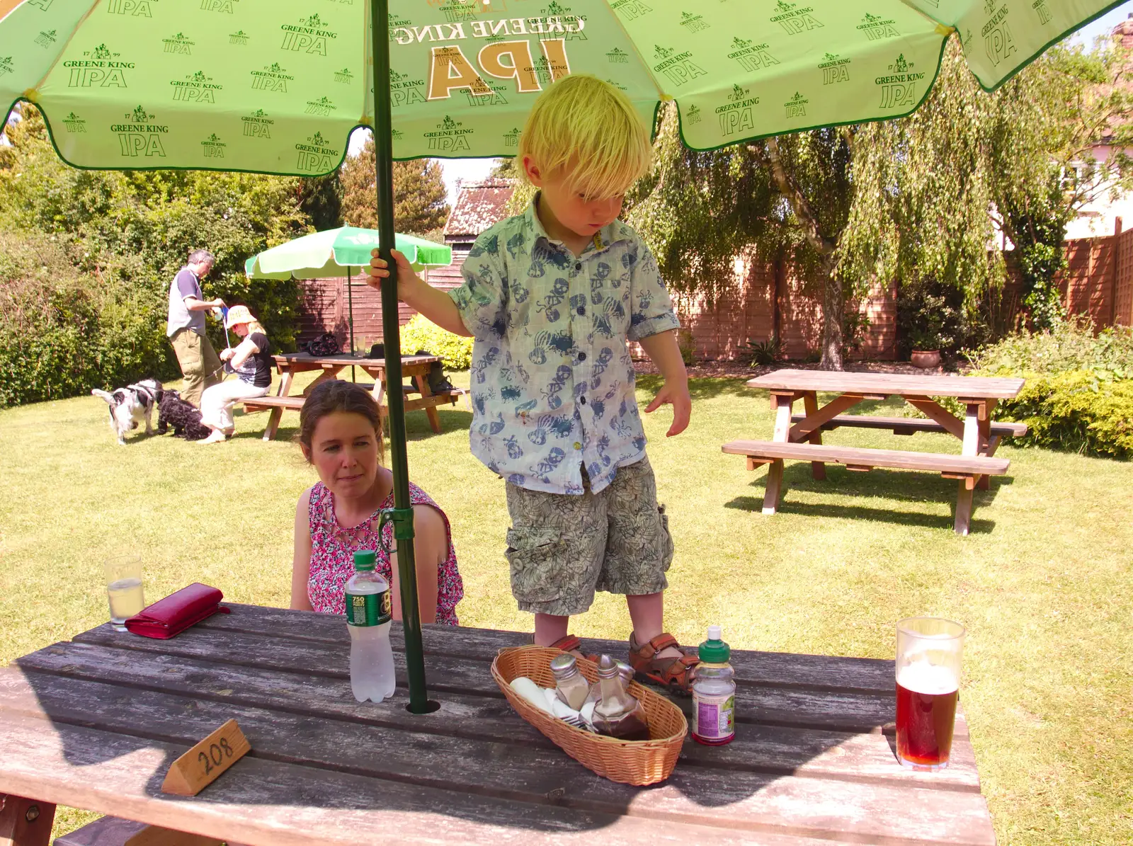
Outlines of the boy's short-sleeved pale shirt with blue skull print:
[{"label": "boy's short-sleeved pale shirt with blue skull print", "polygon": [[679,328],[657,262],[614,221],[576,258],[535,203],[476,239],[450,292],[472,333],[472,454],[529,490],[605,488],[645,455],[627,341]]}]

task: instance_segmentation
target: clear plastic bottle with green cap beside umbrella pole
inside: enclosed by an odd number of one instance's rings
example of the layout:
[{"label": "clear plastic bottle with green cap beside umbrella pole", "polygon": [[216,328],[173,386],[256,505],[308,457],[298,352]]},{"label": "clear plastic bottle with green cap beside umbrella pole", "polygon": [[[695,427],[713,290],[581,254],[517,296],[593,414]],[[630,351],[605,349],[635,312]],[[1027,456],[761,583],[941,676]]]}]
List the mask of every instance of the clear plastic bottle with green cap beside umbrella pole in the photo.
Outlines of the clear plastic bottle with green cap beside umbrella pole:
[{"label": "clear plastic bottle with green cap beside umbrella pole", "polygon": [[392,697],[397,686],[390,647],[390,586],[374,572],[376,559],[372,549],[355,553],[355,574],[347,582],[350,687],[359,702],[381,702]]}]

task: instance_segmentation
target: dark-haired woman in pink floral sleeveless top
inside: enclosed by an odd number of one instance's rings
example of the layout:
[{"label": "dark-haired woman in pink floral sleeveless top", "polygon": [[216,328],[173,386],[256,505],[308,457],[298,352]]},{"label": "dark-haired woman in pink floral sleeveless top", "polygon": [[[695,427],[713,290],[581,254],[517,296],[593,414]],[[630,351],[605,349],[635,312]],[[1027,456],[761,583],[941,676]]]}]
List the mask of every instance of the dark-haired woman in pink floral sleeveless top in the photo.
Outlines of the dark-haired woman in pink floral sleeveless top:
[{"label": "dark-haired woman in pink floral sleeveless top", "polygon": [[[377,531],[382,510],[393,507],[393,473],[382,467],[377,403],[351,382],[321,383],[299,412],[299,445],[320,481],[303,493],[295,511],[291,607],[343,614],[353,554],[373,549],[377,553],[375,572],[393,587],[393,617],[401,619],[397,554],[382,549]],[[457,603],[465,588],[457,571],[449,518],[411,482],[409,498],[420,619],[457,625]],[[386,524],[382,533],[393,549],[393,524]]]}]

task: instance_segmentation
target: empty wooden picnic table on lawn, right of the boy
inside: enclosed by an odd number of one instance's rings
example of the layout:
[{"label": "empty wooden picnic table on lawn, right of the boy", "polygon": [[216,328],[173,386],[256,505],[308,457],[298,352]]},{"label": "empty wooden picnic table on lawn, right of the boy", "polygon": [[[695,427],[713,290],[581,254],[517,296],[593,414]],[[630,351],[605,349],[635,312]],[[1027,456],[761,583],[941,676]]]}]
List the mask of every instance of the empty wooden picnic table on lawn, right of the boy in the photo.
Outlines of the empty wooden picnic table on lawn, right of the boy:
[{"label": "empty wooden picnic table on lawn, right of the boy", "polygon": [[[764,513],[778,509],[783,487],[783,461],[810,461],[815,479],[826,478],[826,463],[842,463],[849,470],[871,470],[889,467],[904,470],[938,471],[944,478],[959,479],[954,529],[968,535],[976,488],[986,490],[991,476],[1007,472],[1011,462],[996,459],[995,452],[1004,437],[1026,434],[1024,424],[996,424],[991,412],[999,400],[1019,396],[1023,379],[985,376],[944,376],[938,374],[902,375],[881,373],[840,373],[833,370],[774,370],[749,379],[748,387],[770,393],[775,411],[772,441],[732,441],[724,444],[726,453],[746,455],[748,469],[770,464],[764,494]],[[818,404],[818,392],[835,393],[825,405]],[[900,396],[927,416],[874,417],[845,415],[866,400]],[[956,398],[965,408],[956,417],[934,398]],[[792,413],[794,403],[803,402],[806,413]],[[842,426],[891,429],[894,435],[938,431],[961,441],[961,454],[911,452],[903,450],[866,450],[823,443],[823,431]]]}]

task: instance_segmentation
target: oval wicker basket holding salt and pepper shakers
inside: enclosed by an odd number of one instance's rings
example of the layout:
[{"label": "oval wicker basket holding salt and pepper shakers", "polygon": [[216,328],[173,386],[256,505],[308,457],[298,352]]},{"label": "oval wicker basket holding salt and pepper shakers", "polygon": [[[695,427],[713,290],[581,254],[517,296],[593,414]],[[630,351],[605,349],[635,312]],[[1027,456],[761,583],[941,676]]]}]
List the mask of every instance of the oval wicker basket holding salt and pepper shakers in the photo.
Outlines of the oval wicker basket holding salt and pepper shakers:
[{"label": "oval wicker basket holding salt and pepper shakers", "polygon": [[[540,687],[554,687],[551,659],[562,655],[546,647],[501,649],[492,661],[492,677],[519,712],[566,754],[613,781],[645,786],[664,781],[676,766],[681,745],[689,733],[681,709],[648,687],[630,683],[630,693],[641,701],[649,724],[648,741],[619,741],[613,737],[574,728],[546,711],[540,711],[511,687],[511,681],[527,676]],[[598,681],[594,661],[579,659],[578,668],[589,682]]]}]

